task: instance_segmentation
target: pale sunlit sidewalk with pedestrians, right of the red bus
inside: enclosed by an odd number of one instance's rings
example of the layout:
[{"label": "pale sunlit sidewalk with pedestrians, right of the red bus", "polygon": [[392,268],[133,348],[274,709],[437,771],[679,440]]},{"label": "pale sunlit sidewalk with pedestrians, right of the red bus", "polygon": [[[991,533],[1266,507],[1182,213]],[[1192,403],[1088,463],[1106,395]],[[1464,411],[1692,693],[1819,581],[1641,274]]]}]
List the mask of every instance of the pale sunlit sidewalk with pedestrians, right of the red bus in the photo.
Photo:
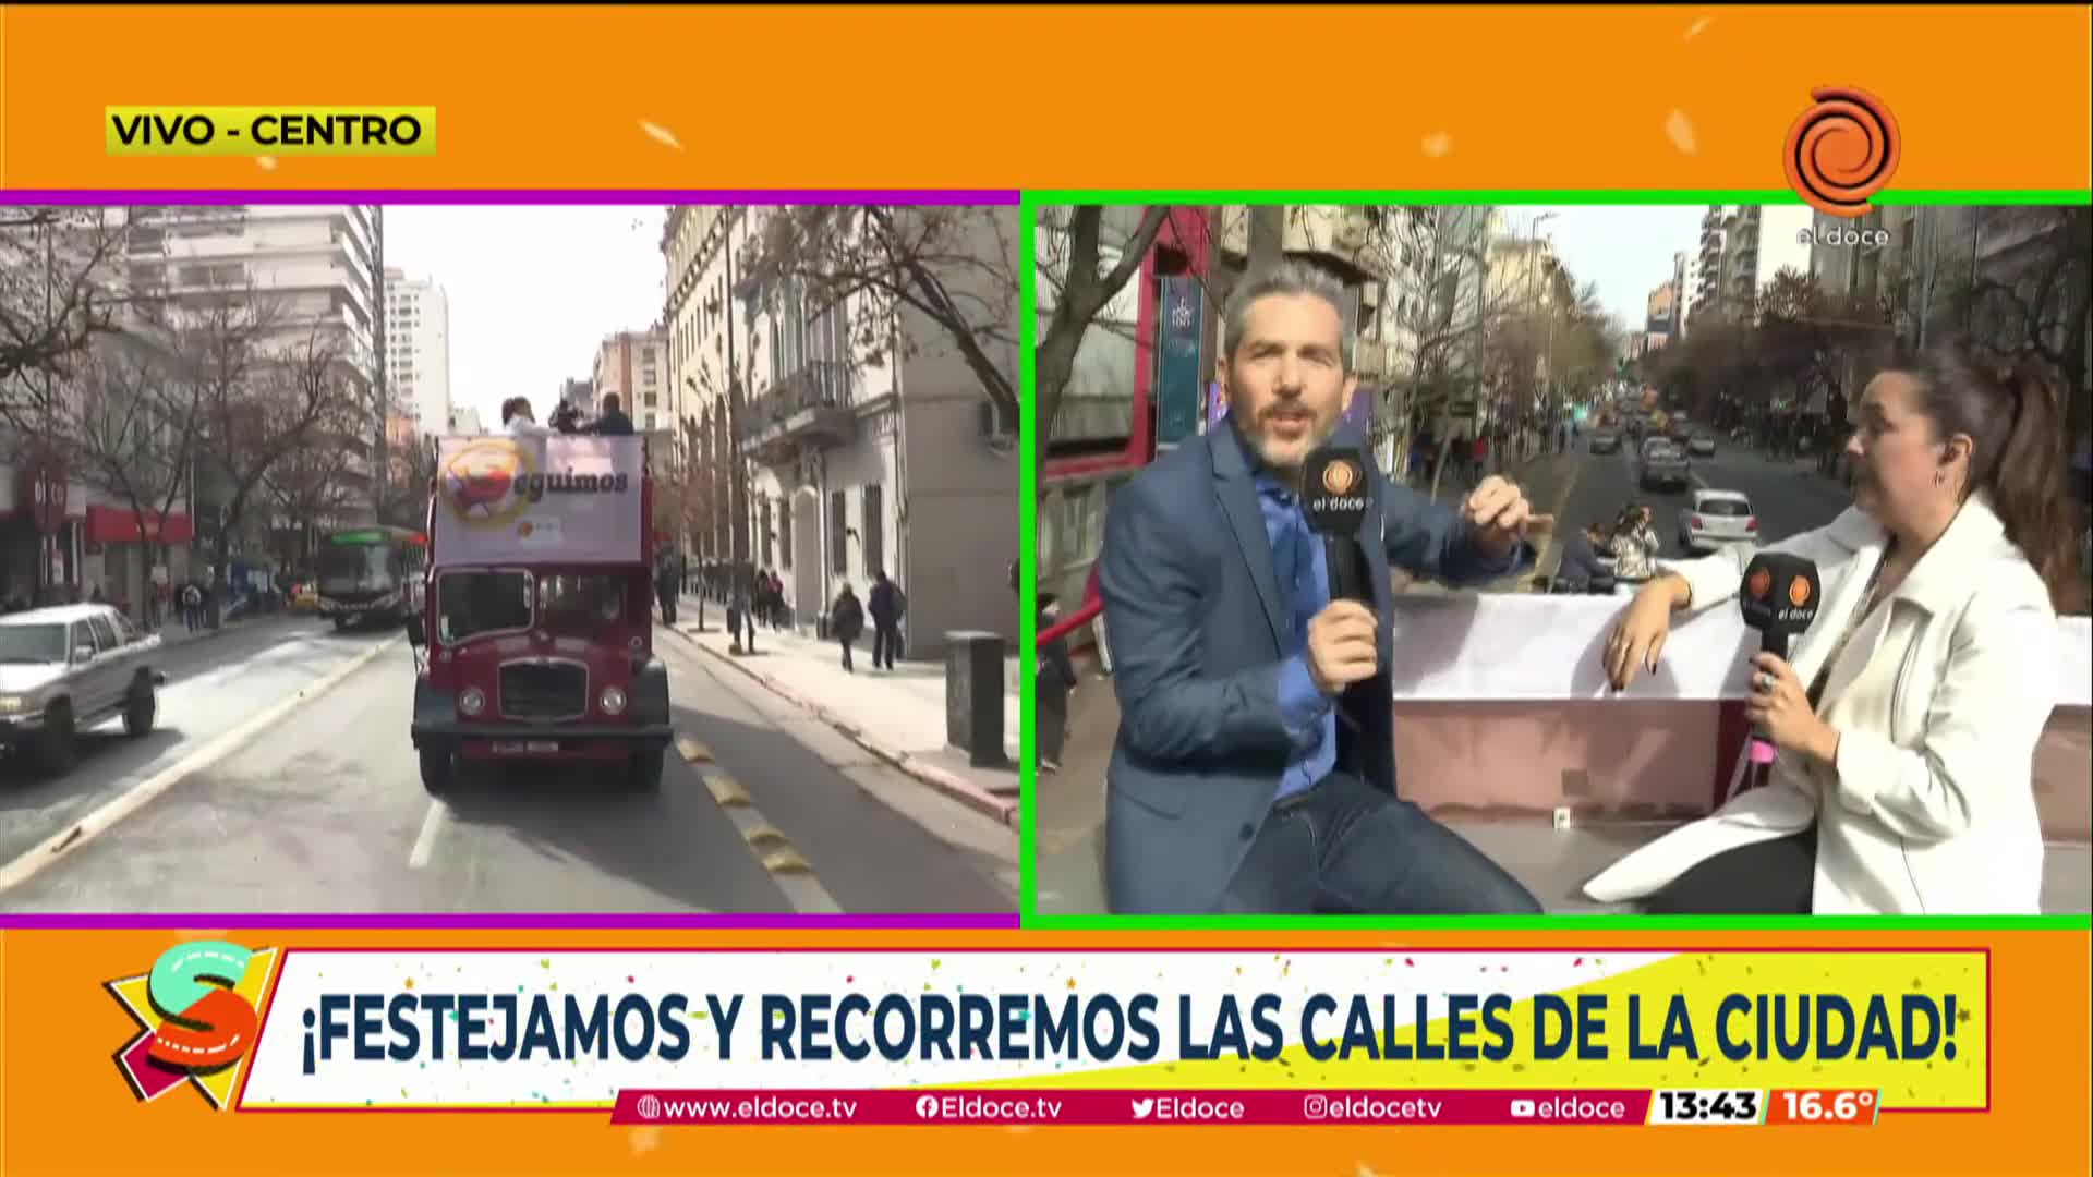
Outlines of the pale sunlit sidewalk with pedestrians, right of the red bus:
[{"label": "pale sunlit sidewalk with pedestrians, right of the red bus", "polygon": [[795,632],[762,630],[756,653],[733,653],[726,614],[705,605],[697,628],[697,599],[684,597],[676,632],[714,660],[756,679],[785,702],[841,731],[867,752],[902,773],[1005,825],[1017,825],[1017,658],[1005,658],[1003,750],[1009,769],[975,769],[946,743],[944,664],[900,662],[873,670],[871,643],[856,647],[856,674],[841,666],[841,649]]}]

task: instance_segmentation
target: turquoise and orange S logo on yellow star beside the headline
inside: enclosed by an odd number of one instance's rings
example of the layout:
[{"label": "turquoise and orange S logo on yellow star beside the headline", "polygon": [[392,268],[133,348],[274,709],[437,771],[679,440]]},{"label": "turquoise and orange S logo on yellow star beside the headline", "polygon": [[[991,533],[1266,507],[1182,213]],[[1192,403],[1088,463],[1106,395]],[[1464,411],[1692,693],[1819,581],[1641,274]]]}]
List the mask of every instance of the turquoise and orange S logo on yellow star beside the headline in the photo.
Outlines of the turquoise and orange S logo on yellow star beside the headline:
[{"label": "turquoise and orange S logo on yellow star beside the headline", "polygon": [[188,1083],[211,1106],[228,1106],[241,1062],[262,1037],[274,965],[276,949],[197,940],[161,953],[144,976],[109,982],[144,1030],[117,1053],[132,1091],[157,1100]]}]

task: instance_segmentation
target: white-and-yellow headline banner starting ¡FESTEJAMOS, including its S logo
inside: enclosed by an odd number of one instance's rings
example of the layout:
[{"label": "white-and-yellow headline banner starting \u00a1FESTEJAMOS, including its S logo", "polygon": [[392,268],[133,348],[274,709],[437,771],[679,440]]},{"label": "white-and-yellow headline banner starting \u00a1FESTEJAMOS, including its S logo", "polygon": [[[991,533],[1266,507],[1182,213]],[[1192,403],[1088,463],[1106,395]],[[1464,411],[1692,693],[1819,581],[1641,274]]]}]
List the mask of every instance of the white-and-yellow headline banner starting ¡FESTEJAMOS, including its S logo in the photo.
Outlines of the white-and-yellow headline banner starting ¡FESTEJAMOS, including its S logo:
[{"label": "white-and-yellow headline banner starting \u00a1FESTEJAMOS, including its S logo", "polygon": [[[944,1118],[944,1104],[923,1104],[940,1112],[923,1116],[877,1093],[938,1089],[1017,1091],[1059,1100],[1057,1112],[1088,1108],[1080,1123],[1122,1123],[1145,1118],[1139,1102],[1057,1093],[1239,1091],[1243,1116],[1266,1123],[1314,1118],[1308,1093],[1325,1108],[1409,1106],[1411,1123],[1513,1123],[1532,1118],[1515,1108],[1563,1100],[1591,1106],[1576,1116],[1586,1123],[1645,1123],[1662,1118],[1658,1091],[1756,1093],[1750,1108],[1743,1095],[1720,1104],[1733,1120],[1762,1120],[1781,1091],[1861,1091],[1869,1118],[1990,1102],[1984,951],[534,953],[203,940],[109,991],[138,1024],[130,1043],[109,1043],[138,1097],[193,1087],[241,1110],[645,1118],[640,1097],[666,1112],[714,1091],[726,1095],[712,1108],[753,1093],[795,1100],[785,1120],[816,1106],[856,1120],[877,1104],[885,1110],[867,1123],[923,1123]],[[850,1116],[823,1104],[850,1093],[873,1097]]]}]

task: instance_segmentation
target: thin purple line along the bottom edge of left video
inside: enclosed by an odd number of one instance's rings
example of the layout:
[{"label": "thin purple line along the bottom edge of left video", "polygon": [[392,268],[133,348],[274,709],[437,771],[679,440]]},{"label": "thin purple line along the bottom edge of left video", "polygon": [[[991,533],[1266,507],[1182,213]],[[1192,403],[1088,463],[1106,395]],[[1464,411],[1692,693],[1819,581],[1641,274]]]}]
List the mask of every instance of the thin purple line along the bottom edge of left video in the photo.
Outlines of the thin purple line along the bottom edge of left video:
[{"label": "thin purple line along the bottom edge of left video", "polygon": [[0,913],[4,930],[90,930],[90,928],[272,928],[272,930],[343,930],[373,928],[381,932],[408,932],[419,928],[456,930],[724,930],[724,928],[770,928],[795,932],[802,928],[933,928],[942,932],[988,928],[1015,930],[1017,913],[950,913],[950,915],[676,915],[636,911],[630,915],[576,915],[576,913],[446,913],[446,915],[316,915],[299,911],[197,911],[197,913],[121,913],[121,911],[80,911],[80,913]]}]

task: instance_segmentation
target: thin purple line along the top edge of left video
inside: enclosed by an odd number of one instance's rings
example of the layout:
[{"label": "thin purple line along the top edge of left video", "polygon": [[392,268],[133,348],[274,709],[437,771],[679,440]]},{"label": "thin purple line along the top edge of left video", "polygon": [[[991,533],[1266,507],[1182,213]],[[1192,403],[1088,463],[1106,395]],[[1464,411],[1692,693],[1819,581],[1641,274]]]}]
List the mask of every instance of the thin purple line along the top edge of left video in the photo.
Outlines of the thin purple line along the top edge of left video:
[{"label": "thin purple line along the top edge of left video", "polygon": [[1015,205],[1017,188],[0,188],[15,205]]}]

